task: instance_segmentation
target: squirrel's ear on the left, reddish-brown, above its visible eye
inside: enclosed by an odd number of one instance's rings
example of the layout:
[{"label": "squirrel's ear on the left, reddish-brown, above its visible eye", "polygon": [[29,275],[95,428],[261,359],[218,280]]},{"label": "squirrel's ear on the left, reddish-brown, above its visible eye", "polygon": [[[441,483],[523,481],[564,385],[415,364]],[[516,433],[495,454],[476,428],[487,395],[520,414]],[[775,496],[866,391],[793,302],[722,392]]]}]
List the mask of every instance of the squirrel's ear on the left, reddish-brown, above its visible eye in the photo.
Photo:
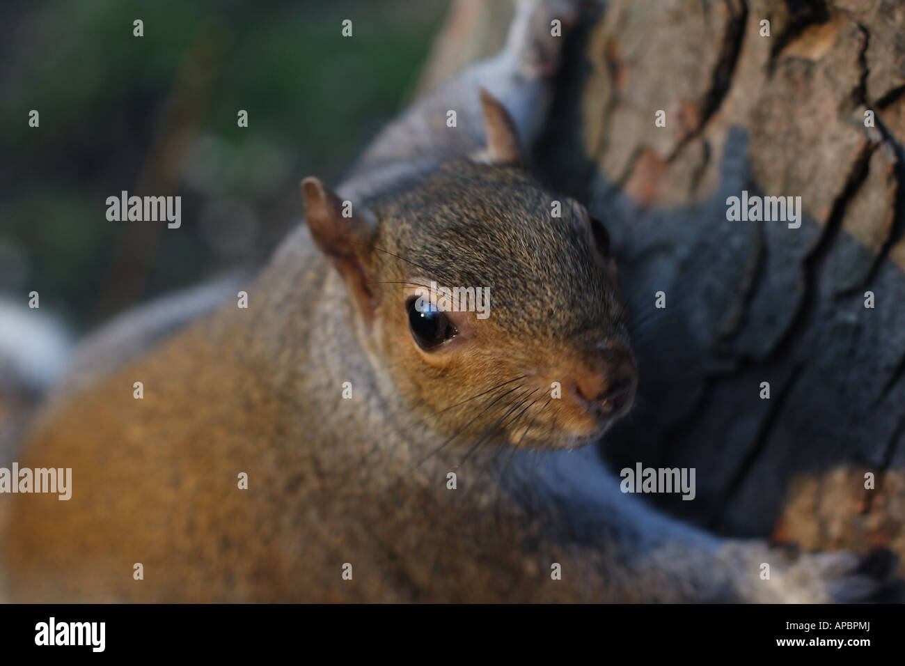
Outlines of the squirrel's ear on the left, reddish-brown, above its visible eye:
[{"label": "squirrel's ear on the left, reddish-brown, above its visible eye", "polygon": [[352,202],[340,201],[316,178],[301,181],[301,197],[314,244],[346,279],[349,290],[362,306],[366,321],[370,321],[373,309],[367,286],[367,260],[375,232],[373,216],[367,210],[353,213]]}]

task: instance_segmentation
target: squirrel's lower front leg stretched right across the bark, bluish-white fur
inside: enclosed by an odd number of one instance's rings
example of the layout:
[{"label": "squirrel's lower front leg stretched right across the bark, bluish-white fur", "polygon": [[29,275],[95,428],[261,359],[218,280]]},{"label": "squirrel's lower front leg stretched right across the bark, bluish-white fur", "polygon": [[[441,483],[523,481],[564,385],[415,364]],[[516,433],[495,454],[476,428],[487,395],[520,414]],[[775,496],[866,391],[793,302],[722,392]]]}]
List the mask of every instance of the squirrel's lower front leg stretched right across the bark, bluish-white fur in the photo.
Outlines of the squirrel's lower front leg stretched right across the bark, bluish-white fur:
[{"label": "squirrel's lower front leg stretched right across the bark, bluish-white fur", "polygon": [[[897,560],[884,551],[796,555],[763,541],[711,535],[624,495],[593,449],[524,457],[509,478],[546,497],[551,528],[571,535],[573,565],[595,581],[586,589],[617,602],[853,603],[900,598]],[[530,471],[527,466],[534,467]],[[519,473],[520,472],[520,473]],[[538,507],[526,504],[538,514]],[[546,530],[545,530],[546,531]],[[557,542],[562,539],[557,539]],[[564,565],[564,569],[566,566]],[[594,593],[597,594],[597,593]]]}]

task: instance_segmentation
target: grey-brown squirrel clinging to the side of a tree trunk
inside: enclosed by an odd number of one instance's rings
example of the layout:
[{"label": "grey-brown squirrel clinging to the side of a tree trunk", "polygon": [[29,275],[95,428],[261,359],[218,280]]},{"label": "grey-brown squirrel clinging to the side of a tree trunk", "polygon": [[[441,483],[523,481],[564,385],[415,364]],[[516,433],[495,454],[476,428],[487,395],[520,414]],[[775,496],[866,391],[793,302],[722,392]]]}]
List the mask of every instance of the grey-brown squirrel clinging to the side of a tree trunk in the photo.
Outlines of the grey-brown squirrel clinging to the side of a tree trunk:
[{"label": "grey-brown squirrel clinging to the side of a tree trunk", "polygon": [[[662,516],[584,446],[630,409],[639,375],[605,226],[538,183],[523,150],[561,7],[521,3],[503,53],[405,111],[336,193],[304,179],[305,223],[247,308],[205,306],[67,382],[20,467],[71,468],[71,499],[0,495],[9,598],[824,602],[881,589],[888,566]],[[445,127],[457,107],[461,126]],[[418,305],[435,285],[488,286],[491,315]]]}]

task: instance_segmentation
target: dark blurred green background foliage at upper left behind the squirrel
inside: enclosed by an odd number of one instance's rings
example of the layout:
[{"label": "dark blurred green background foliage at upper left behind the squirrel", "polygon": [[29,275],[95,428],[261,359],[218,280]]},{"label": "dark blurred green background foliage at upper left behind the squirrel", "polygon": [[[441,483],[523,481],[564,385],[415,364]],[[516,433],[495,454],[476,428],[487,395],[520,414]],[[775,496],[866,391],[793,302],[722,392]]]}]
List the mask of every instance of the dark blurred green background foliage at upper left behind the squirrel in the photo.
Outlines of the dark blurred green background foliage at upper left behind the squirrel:
[{"label": "dark blurred green background foliage at upper left behind the squirrel", "polygon": [[[43,307],[86,326],[260,263],[300,219],[299,180],[338,182],[405,103],[445,5],[7,4],[0,293],[38,290]],[[182,195],[183,226],[108,221],[105,199],[123,189]]]}]

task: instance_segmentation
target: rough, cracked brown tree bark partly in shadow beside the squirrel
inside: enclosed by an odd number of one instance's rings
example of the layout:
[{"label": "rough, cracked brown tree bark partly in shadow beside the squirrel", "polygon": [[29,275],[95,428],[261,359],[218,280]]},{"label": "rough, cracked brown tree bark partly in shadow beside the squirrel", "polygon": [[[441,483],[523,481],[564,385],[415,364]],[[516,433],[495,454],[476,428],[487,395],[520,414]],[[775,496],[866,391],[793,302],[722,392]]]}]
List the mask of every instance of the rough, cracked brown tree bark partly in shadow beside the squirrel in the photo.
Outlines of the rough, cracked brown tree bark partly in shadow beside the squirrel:
[{"label": "rough, cracked brown tree bark partly in shadow beside the squirrel", "polygon": [[[425,87],[495,47],[475,2]],[[568,39],[535,161],[609,227],[642,372],[605,455],[697,468],[653,501],[719,533],[905,559],[905,3],[613,0]],[[801,227],[728,221],[743,189]]]}]

